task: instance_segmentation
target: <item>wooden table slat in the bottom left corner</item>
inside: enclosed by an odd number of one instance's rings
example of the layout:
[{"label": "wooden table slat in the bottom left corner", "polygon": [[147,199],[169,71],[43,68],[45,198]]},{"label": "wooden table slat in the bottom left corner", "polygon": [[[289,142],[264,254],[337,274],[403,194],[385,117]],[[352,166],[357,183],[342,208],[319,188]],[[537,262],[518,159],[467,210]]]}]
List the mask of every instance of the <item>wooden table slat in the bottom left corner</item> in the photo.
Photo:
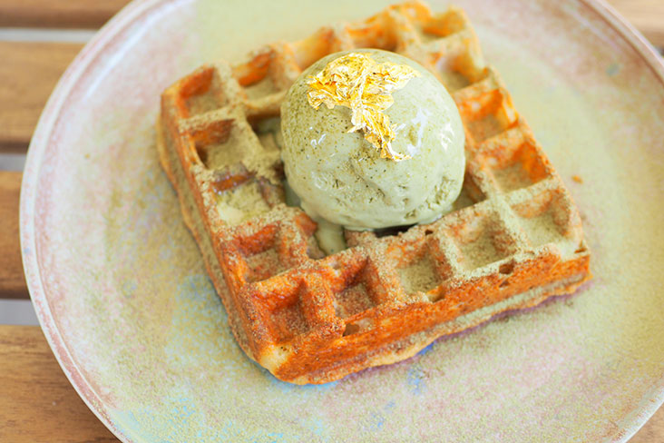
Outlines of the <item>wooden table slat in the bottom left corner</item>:
[{"label": "wooden table slat in the bottom left corner", "polygon": [[0,361],[0,441],[119,441],[78,397],[39,327],[0,325]]}]

